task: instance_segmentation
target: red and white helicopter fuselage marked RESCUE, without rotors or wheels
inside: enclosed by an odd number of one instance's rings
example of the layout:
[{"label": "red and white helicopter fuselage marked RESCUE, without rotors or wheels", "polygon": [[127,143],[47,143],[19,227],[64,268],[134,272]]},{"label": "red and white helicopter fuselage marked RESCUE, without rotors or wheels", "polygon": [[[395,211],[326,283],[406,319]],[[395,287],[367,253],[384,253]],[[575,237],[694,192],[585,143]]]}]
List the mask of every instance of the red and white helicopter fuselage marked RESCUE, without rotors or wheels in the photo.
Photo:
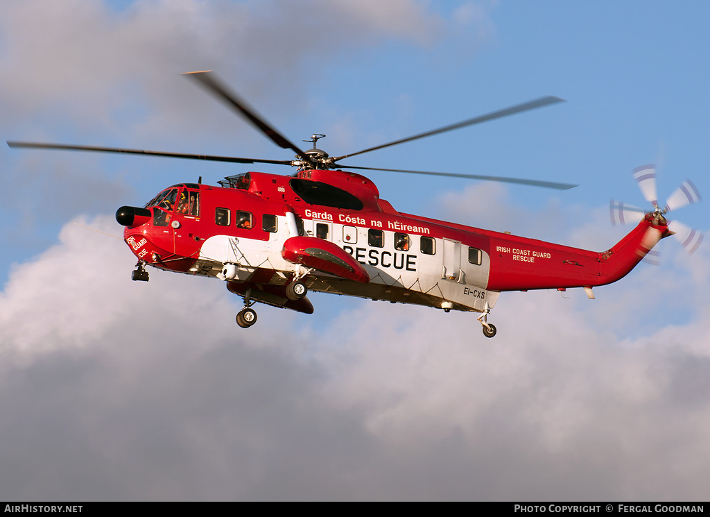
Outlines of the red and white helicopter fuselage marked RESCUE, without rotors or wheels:
[{"label": "red and white helicopter fuselage marked RESCUE, without rotors or wheels", "polygon": [[246,173],[221,183],[163,190],[146,205],[149,217],[126,226],[126,243],[151,266],[219,278],[234,293],[253,289],[260,301],[302,312],[312,310],[289,307],[280,293],[309,266],[285,252],[295,236],[314,238],[313,249],[322,247],[316,239],[328,241],[364,270],[356,278],[312,262],[310,290],[481,312],[501,291],[616,281],[667,233],[665,221],[647,217],[599,253],[400,213],[371,180],[340,170]]}]

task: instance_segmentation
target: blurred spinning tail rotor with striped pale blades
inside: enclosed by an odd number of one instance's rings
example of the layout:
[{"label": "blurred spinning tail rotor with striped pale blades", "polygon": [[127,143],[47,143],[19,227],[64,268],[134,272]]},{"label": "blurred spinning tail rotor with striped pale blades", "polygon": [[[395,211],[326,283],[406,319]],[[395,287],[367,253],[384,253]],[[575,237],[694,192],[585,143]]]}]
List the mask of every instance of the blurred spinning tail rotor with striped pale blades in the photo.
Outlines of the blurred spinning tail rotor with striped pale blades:
[{"label": "blurred spinning tail rotor with striped pale blades", "polygon": [[[697,187],[693,185],[692,181],[684,180],[668,197],[665,207],[661,208],[658,205],[655,166],[642,165],[641,167],[635,168],[633,170],[633,178],[636,180],[636,183],[638,183],[638,187],[645,200],[650,202],[653,206],[653,210],[647,212],[644,209],[626,205],[621,201],[611,200],[609,204],[609,215],[611,217],[611,224],[614,226],[617,224],[638,222],[647,213],[659,219],[665,219],[665,214],[668,212],[687,207],[688,205],[694,205],[701,200],[700,192]],[[693,254],[703,240],[703,234],[701,232],[677,221],[671,221],[668,227],[689,254]],[[649,261],[655,263],[653,258],[654,257],[650,257]]]}]

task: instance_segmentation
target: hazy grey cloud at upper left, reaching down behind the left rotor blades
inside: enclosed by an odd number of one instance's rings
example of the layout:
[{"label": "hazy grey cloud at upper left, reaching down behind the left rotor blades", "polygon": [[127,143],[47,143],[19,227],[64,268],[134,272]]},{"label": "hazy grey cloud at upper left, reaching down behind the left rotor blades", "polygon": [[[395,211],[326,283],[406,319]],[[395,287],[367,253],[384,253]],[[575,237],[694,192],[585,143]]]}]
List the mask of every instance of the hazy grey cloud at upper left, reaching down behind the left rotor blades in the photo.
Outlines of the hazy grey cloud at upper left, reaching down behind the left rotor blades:
[{"label": "hazy grey cloud at upper left, reaching down behind the left rotor blades", "polygon": [[[427,48],[445,40],[455,22],[435,8],[413,0],[4,1],[0,130],[8,140],[289,158],[179,74],[217,70],[291,135],[288,121],[304,116],[312,85],[334,73],[334,63],[347,67],[388,45]],[[342,124],[342,107],[334,111]],[[362,132],[334,131],[344,148]],[[148,177],[188,170],[194,181],[202,174],[187,160],[147,159],[138,165],[143,176],[126,157],[4,148],[0,160],[5,185],[16,193],[2,208],[13,256],[48,245],[48,233],[59,229],[53,222],[138,204],[165,186]],[[206,174],[219,178],[221,170],[212,164]]]}]

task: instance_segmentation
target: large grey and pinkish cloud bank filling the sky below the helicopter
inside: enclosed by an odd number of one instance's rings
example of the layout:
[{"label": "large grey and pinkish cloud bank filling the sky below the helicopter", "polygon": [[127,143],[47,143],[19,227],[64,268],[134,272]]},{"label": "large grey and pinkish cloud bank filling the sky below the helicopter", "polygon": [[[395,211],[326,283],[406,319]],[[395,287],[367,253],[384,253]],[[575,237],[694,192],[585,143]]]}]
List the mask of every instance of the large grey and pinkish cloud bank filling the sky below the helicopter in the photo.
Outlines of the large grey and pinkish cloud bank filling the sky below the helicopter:
[{"label": "large grey and pinkish cloud bank filling the sky below the helicopter", "polygon": [[[116,233],[108,216],[76,222]],[[473,315],[404,305],[362,301],[320,321],[340,298],[313,295],[316,315],[259,307],[244,331],[218,281],[151,270],[133,283],[132,266],[121,242],[67,224],[13,269],[0,496],[704,497],[700,316],[619,337],[589,317],[603,297],[504,293],[488,340]]]}]

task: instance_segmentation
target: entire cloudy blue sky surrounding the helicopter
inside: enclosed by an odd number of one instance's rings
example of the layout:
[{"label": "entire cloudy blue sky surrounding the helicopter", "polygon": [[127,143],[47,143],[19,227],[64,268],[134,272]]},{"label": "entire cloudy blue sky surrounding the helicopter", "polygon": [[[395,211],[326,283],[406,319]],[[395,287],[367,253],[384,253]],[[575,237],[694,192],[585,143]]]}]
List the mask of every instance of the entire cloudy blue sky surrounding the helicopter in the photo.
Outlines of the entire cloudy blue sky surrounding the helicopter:
[{"label": "entire cloudy blue sky surrounding the helicopter", "polygon": [[[602,251],[610,198],[710,192],[701,1],[9,0],[0,133],[288,159],[181,77],[215,70],[293,141],[351,158],[575,183],[371,173],[402,212]],[[306,144],[304,144],[306,145]],[[344,160],[345,161],[345,160]],[[271,166],[0,148],[0,499],[707,500],[707,243],[595,289],[475,315],[310,295],[236,326],[219,281],[151,270],[114,213]],[[708,231],[705,205],[677,217]],[[672,214],[675,217],[675,214]],[[92,231],[95,230],[95,231]],[[102,233],[99,233],[102,232]]]}]

